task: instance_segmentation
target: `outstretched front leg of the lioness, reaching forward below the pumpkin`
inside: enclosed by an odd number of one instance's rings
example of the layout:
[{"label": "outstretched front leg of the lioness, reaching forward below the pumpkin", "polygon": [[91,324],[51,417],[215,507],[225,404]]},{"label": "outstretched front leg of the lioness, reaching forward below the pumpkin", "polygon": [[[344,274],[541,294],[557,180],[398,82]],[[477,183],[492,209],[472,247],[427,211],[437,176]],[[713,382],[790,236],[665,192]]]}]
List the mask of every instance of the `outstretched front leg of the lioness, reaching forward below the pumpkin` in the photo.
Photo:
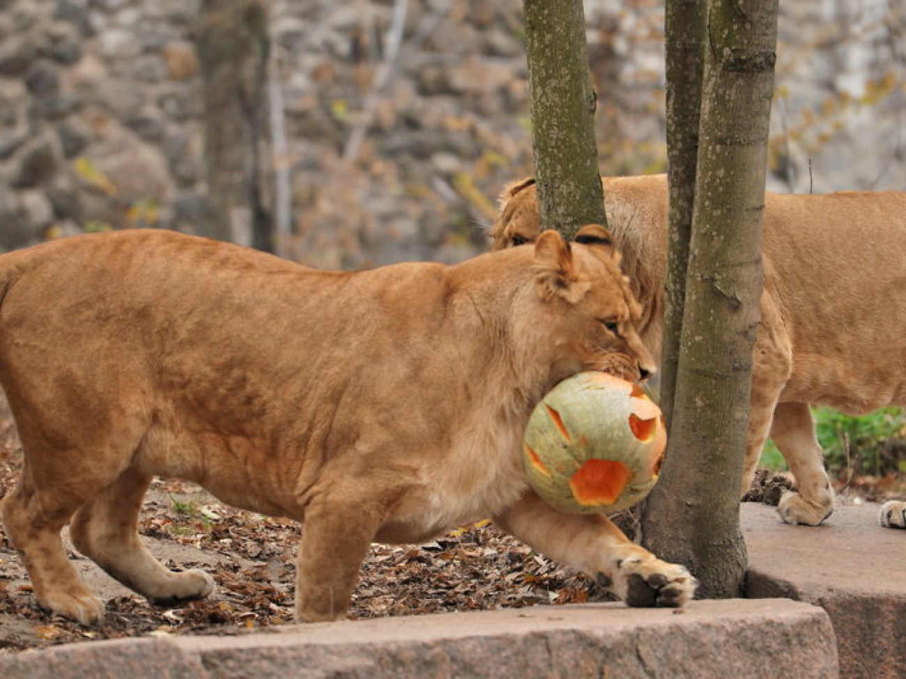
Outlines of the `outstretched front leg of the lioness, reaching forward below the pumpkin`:
[{"label": "outstretched front leg of the lioness, reaching forward below the pumpkin", "polygon": [[689,570],[633,544],[605,516],[557,512],[529,491],[496,521],[545,556],[589,573],[629,606],[682,606],[695,595]]}]

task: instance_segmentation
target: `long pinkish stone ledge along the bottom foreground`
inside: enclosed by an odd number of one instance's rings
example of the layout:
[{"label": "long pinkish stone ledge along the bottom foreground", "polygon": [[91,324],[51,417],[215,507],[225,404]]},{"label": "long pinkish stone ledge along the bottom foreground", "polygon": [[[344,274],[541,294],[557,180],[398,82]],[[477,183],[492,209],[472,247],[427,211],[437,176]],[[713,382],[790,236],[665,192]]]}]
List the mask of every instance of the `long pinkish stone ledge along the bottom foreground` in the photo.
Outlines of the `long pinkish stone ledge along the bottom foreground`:
[{"label": "long pinkish stone ledge along the bottom foreground", "polygon": [[584,604],[59,646],[0,658],[5,679],[141,676],[837,677],[820,607],[694,601],[677,612]]}]

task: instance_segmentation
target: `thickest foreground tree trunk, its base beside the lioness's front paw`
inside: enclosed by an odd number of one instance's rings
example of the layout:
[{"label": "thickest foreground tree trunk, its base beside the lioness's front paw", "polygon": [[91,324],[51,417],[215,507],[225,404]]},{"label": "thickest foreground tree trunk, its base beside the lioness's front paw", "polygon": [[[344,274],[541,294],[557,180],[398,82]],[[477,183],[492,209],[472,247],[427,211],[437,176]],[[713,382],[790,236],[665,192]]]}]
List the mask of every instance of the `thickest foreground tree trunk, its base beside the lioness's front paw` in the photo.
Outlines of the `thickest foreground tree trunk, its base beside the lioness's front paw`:
[{"label": "thickest foreground tree trunk, its base beside the lioness's front paw", "polygon": [[689,566],[704,597],[738,596],[746,568],[739,485],[761,292],[776,16],[776,0],[709,5],[672,453],[646,507],[646,544]]}]

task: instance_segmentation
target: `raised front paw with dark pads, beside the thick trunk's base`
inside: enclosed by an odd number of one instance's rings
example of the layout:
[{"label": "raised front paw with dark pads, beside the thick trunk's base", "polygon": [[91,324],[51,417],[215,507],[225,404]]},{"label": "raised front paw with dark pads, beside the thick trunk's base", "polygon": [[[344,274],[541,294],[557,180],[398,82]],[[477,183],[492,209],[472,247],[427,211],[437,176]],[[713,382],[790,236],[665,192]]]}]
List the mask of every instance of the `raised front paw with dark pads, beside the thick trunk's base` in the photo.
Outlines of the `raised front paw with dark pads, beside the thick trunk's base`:
[{"label": "raised front paw with dark pads, beside the thick trunk's base", "polygon": [[683,606],[699,586],[685,566],[653,557],[622,559],[612,578],[600,573],[598,582],[631,607]]}]

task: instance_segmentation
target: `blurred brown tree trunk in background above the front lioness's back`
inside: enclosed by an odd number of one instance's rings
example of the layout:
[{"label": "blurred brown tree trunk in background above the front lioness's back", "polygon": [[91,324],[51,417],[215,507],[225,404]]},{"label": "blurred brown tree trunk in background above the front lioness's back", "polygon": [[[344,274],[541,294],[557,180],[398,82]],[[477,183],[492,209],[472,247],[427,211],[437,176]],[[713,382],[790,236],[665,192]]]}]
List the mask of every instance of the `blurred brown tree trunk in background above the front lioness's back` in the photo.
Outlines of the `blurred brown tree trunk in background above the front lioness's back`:
[{"label": "blurred brown tree trunk in background above the front lioness's back", "polygon": [[211,223],[199,231],[274,251],[263,196],[267,10],[264,0],[202,0],[205,169]]}]

